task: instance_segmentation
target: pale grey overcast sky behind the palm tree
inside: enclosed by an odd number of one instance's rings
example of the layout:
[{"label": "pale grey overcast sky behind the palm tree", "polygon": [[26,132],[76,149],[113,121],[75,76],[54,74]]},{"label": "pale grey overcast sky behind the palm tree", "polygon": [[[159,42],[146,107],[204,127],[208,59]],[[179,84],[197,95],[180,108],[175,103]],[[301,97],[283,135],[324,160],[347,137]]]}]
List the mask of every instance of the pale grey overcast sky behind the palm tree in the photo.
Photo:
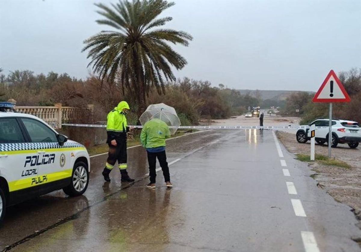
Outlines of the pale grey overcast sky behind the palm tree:
[{"label": "pale grey overcast sky behind the palm tree", "polygon": [[[83,40],[108,29],[94,3],[0,0],[0,67],[86,78]],[[168,27],[194,37],[177,46],[177,77],[236,89],[316,91],[330,69],[361,67],[361,1],[175,0]],[[109,30],[109,29],[108,29]]]}]

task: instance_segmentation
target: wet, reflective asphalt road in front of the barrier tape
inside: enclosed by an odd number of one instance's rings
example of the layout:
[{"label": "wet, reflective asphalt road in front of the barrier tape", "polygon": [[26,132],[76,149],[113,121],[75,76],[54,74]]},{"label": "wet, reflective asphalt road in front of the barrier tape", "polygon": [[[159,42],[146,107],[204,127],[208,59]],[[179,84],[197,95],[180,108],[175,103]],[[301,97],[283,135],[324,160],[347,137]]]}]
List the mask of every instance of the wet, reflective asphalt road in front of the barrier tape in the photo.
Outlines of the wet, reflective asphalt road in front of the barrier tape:
[{"label": "wet, reflective asphalt road in front of the barrier tape", "polygon": [[284,157],[268,130],[205,131],[169,140],[168,162],[177,161],[170,166],[174,187],[167,189],[158,172],[156,190],[145,187],[141,147],[128,149],[134,184],[121,183],[116,169],[105,183],[106,155],[91,158],[82,197],[58,191],[8,208],[0,248],[317,251],[307,236],[312,234],[319,251],[360,251],[350,239],[361,236],[350,208],[317,188],[307,165],[281,149]]}]

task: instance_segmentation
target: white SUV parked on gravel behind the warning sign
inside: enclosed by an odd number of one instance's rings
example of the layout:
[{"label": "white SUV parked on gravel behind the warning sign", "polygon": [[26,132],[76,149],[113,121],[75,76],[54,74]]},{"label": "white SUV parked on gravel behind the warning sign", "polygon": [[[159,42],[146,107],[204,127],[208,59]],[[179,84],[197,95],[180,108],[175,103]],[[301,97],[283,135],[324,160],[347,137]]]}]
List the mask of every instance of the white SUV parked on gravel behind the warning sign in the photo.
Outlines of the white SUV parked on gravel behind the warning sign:
[{"label": "white SUV parked on gravel behind the warning sign", "polygon": [[[311,139],[310,126],[315,125],[315,140],[318,144],[328,143],[329,139],[329,119],[318,119],[309,125],[302,125],[305,129],[299,129],[296,133],[296,139],[299,143],[306,143]],[[358,122],[347,120],[332,120],[332,147],[338,144],[348,144],[350,148],[357,148],[361,142],[361,128]]]}]

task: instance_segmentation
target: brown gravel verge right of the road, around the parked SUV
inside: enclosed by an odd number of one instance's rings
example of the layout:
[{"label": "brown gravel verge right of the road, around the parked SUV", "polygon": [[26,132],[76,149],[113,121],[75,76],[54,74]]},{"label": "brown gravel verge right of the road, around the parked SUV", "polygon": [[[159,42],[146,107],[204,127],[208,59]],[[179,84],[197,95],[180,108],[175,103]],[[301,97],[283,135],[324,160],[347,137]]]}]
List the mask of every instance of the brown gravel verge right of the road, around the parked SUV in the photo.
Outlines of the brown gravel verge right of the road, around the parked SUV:
[{"label": "brown gravel verge right of the road, around the parked SUV", "polygon": [[[277,132],[277,136],[289,152],[310,154],[310,143],[298,143],[295,134]],[[315,152],[327,156],[328,147],[326,144],[316,144]],[[312,177],[317,180],[317,185],[325,189],[336,201],[353,208],[359,221],[358,227],[361,229],[361,148],[350,149],[347,144],[339,144],[337,148],[332,148],[332,157],[347,162],[352,168],[309,163],[309,167],[315,172]]]}]

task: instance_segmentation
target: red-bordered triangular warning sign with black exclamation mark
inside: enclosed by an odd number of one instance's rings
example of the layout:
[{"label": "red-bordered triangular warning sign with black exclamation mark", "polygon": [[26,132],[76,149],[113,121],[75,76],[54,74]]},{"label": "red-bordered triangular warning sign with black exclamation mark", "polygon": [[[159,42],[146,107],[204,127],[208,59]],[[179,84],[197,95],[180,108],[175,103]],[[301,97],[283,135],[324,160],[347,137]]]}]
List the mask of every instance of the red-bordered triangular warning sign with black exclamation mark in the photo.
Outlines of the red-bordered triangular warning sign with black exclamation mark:
[{"label": "red-bordered triangular warning sign with black exclamation mark", "polygon": [[318,89],[312,102],[350,102],[344,86],[337,77],[336,73],[331,70]]}]

